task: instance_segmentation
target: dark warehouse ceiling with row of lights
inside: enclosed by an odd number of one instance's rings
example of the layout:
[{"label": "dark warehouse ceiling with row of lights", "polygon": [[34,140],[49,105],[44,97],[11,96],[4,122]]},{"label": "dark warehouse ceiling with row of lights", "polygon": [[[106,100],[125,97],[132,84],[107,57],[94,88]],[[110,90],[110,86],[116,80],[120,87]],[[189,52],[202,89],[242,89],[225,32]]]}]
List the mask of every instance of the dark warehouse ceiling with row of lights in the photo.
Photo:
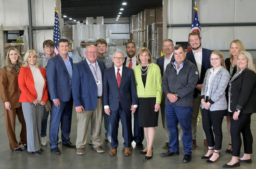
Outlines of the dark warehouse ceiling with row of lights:
[{"label": "dark warehouse ceiling with row of lights", "polygon": [[[122,5],[123,2],[127,4]],[[61,0],[61,14],[77,21],[86,17],[115,18],[119,12],[122,12],[120,17],[131,17],[154,8],[162,8],[162,0]]]}]

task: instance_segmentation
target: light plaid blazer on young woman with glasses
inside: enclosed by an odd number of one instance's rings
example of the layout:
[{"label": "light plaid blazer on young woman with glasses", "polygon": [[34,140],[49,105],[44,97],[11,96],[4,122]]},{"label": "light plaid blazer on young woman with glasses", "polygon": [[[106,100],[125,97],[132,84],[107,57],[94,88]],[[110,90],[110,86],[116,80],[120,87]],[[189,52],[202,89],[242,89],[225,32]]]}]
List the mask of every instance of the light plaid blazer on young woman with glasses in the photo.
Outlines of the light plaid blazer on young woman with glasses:
[{"label": "light plaid blazer on young woman with glasses", "polygon": [[[213,69],[213,68],[211,68]],[[206,98],[206,92],[208,90],[208,83],[210,77],[210,69],[207,70],[205,78],[203,80],[203,86],[201,90],[201,99]],[[223,66],[218,70],[217,74],[213,77],[210,85],[209,102],[210,111],[226,110],[228,109],[227,100],[225,97],[225,90],[228,86],[230,75],[228,70]],[[203,109],[203,105],[200,105]]]}]

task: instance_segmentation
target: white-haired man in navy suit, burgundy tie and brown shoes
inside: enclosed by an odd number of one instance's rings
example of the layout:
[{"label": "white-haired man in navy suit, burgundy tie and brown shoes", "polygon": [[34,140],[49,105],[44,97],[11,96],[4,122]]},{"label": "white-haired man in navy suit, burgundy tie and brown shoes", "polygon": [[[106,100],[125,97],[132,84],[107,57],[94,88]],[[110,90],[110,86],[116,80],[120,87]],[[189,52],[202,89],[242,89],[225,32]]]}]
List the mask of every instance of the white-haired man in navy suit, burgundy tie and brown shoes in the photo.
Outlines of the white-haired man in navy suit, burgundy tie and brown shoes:
[{"label": "white-haired man in navy suit, burgundy tie and brown shoes", "polygon": [[[131,154],[130,146],[132,143],[131,119],[138,106],[138,97],[135,86],[135,77],[133,69],[123,66],[124,54],[121,51],[116,51],[112,61],[114,66],[104,71],[103,78],[103,101],[105,113],[110,115],[111,124],[111,151],[110,156],[116,155],[118,146],[118,127],[119,119],[123,126],[124,138],[124,155]],[[132,110],[132,113],[131,113]]]}]

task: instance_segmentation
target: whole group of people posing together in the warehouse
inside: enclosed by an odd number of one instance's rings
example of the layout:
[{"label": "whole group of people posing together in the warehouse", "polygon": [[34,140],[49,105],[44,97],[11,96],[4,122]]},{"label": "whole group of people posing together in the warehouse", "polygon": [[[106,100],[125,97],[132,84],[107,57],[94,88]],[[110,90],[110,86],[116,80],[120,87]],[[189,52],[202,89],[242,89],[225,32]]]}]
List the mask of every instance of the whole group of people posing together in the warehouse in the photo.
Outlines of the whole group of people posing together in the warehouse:
[{"label": "whole group of people posing together in the warehouse", "polygon": [[[208,148],[202,159],[212,163],[220,158],[221,125],[227,116],[229,145],[226,152],[232,153],[232,159],[223,167],[251,163],[250,118],[256,111],[253,103],[256,99],[256,71],[252,56],[245,52],[240,40],[231,42],[230,58],[226,60],[220,51],[202,48],[201,41],[199,34],[190,33],[192,50],[186,53],[184,46],[174,46],[171,39],[165,39],[165,55],[159,57],[156,64],[152,62],[149,49],[141,48],[137,52],[133,42],[126,44],[126,57],[121,51],[110,56],[106,54],[106,41],[98,39],[96,45],[86,48],[86,59],[74,67],[72,58],[67,55],[69,43],[66,39],[60,39],[59,54],[54,57],[54,42],[51,40],[43,43],[45,54],[40,59],[29,50],[23,65],[17,49],[10,48],[6,66],[0,74],[10,149],[22,151],[19,147],[22,144],[28,152],[41,155],[44,150],[40,145],[47,145],[46,126],[50,114],[49,140],[54,154],[61,154],[58,148],[60,126],[62,145],[77,148],[77,154],[83,155],[90,121],[89,144],[98,153],[104,153],[101,136],[104,118],[105,140],[111,143],[110,156],[117,154],[121,120],[124,155],[131,154],[132,141],[142,148],[145,135],[147,146],[139,154],[148,160],[153,156],[160,110],[165,129],[162,148],[168,148],[168,152],[161,156],[179,155],[182,135],[182,162],[190,162],[191,149],[196,148],[196,119],[201,112],[204,144]],[[44,109],[47,101],[51,102],[51,111]],[[69,137],[73,103],[78,120],[76,145]],[[15,137],[16,114],[22,126],[19,143]],[[241,132],[245,154],[238,159]]]}]

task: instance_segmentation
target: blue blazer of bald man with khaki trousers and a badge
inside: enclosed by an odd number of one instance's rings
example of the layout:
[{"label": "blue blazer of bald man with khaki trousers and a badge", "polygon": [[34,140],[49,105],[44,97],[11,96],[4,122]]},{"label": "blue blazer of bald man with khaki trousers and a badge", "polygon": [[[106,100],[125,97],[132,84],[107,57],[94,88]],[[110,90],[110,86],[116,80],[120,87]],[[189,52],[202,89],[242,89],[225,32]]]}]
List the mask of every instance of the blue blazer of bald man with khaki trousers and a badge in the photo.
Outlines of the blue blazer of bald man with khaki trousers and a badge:
[{"label": "blue blazer of bald man with khaki trousers and a badge", "polygon": [[[104,62],[98,61],[102,73],[106,69]],[[101,79],[102,83],[102,79]],[[87,59],[74,65],[72,78],[74,106],[83,106],[85,110],[94,110],[98,98],[98,86],[87,63]]]}]

